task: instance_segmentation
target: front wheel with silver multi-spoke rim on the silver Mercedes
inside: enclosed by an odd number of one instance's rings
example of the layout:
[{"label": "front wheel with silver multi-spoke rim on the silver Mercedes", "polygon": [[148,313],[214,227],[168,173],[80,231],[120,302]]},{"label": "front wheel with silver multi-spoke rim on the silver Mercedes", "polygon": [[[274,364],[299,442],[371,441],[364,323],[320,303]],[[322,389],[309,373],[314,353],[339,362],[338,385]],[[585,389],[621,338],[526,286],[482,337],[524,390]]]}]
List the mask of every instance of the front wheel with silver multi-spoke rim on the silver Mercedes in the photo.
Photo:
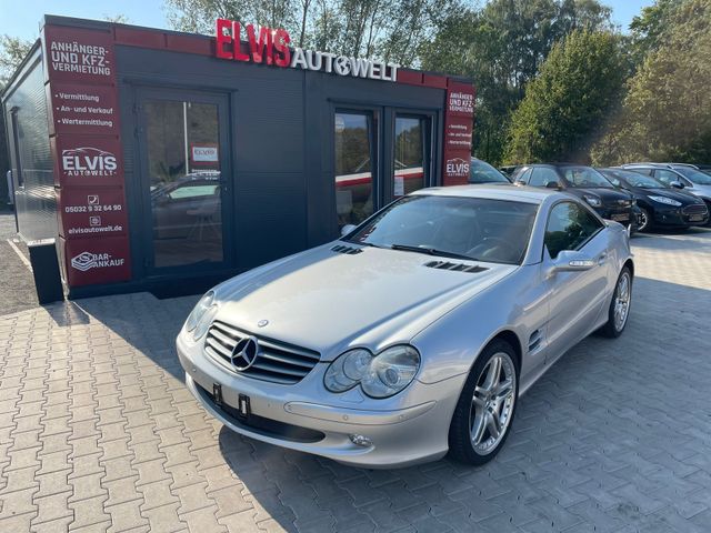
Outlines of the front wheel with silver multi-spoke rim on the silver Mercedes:
[{"label": "front wheel with silver multi-spoke rim on the silver Mercedes", "polygon": [[471,465],[491,461],[511,432],[518,398],[515,351],[497,339],[477,358],[459,396],[449,430],[450,456]]}]

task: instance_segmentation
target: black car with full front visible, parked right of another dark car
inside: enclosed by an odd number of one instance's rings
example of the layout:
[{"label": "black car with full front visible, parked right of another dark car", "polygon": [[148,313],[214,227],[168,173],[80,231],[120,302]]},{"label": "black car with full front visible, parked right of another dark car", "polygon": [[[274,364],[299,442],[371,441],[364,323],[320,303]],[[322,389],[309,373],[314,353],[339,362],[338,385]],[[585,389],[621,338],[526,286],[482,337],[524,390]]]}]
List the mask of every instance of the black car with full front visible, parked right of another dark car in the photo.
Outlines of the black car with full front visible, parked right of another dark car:
[{"label": "black car with full front visible, parked right of another dark car", "polygon": [[709,210],[703,200],[650,175],[624,169],[598,169],[610,182],[631,192],[640,209],[639,231],[654,227],[703,225]]}]

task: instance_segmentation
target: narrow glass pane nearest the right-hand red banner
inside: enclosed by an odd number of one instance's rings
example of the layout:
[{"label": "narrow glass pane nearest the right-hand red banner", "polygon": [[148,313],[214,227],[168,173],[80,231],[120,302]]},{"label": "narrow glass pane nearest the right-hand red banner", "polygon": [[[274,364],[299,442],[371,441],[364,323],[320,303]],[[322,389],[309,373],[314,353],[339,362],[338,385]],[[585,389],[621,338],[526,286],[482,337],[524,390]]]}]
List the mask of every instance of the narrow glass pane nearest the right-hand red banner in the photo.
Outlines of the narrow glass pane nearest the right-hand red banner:
[{"label": "narrow glass pane nearest the right-hand red banner", "polygon": [[403,197],[422,189],[425,183],[424,128],[427,119],[395,118],[394,197]]}]

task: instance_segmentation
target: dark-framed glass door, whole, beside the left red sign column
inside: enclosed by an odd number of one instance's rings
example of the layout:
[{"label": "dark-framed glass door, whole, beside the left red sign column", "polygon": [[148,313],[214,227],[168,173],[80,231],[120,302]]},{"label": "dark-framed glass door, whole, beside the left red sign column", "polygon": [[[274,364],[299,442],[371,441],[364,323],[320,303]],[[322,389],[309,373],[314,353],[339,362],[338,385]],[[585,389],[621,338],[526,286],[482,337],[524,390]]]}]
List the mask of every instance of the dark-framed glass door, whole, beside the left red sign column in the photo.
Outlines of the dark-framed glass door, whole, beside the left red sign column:
[{"label": "dark-framed glass door, whole, beside the left red sign column", "polygon": [[227,98],[212,95],[140,95],[149,271],[210,270],[226,262],[227,108]]}]

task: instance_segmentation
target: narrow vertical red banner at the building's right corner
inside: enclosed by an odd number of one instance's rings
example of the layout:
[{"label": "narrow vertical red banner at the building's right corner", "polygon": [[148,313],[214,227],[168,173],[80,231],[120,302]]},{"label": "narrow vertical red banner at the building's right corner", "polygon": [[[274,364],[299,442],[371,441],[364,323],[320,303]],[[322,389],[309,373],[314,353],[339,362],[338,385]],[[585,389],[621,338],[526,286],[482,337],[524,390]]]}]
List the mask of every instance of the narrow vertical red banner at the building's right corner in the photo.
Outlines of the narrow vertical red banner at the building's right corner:
[{"label": "narrow vertical red banner at the building's right corner", "polygon": [[474,123],[474,88],[449,80],[444,107],[442,184],[461,185],[469,180]]}]

